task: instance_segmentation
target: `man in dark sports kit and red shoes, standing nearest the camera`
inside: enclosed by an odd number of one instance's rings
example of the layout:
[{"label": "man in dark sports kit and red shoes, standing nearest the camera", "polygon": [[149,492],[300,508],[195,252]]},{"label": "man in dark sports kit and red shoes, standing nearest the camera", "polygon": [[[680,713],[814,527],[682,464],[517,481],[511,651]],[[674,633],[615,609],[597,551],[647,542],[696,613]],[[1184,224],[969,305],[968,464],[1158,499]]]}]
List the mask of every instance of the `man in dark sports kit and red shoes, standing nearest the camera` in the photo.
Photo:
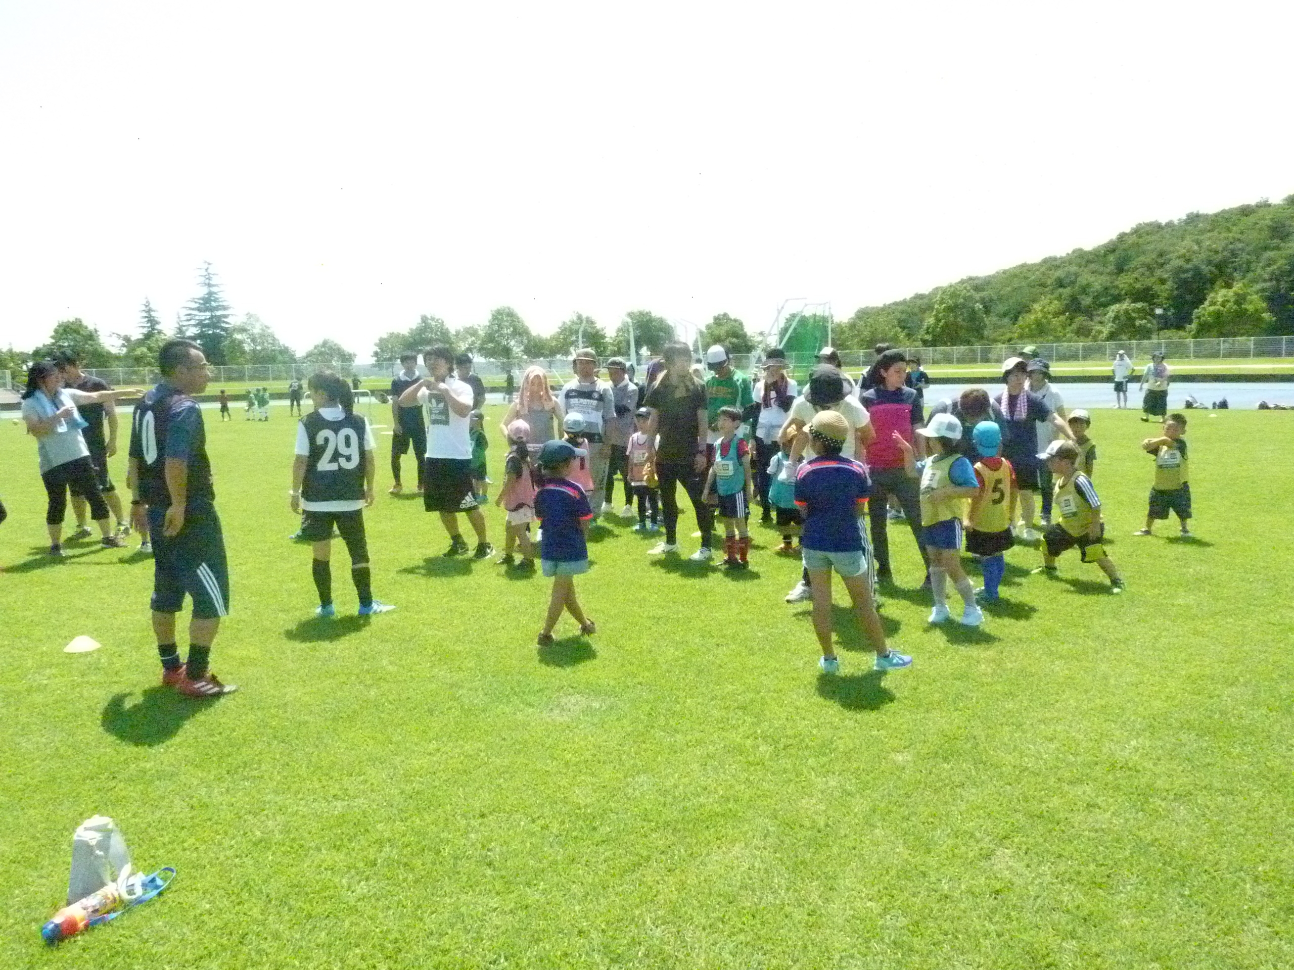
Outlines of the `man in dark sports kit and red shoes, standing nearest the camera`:
[{"label": "man in dark sports kit and red shoes, standing nearest the camera", "polygon": [[[211,366],[192,340],[168,340],[158,353],[162,383],[135,406],[131,422],[131,481],[148,504],[153,537],[153,632],[162,683],[189,697],[220,697],[238,689],[210,667],[220,618],[229,614],[229,566],[216,515],[211,459],[202,409]],[[175,617],[193,600],[189,658],[181,662]]]}]

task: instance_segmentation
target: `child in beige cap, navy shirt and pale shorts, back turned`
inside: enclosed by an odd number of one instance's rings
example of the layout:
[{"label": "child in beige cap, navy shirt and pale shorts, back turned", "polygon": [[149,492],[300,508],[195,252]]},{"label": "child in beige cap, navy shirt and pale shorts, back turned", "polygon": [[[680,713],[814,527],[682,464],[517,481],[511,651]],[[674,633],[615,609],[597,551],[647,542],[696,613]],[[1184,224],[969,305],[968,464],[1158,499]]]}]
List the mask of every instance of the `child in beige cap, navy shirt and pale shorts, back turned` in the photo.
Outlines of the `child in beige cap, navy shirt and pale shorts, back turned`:
[{"label": "child in beige cap, navy shirt and pale shorts, back turned", "polygon": [[867,469],[840,451],[851,435],[849,422],[837,411],[818,411],[809,423],[817,453],[796,473],[796,504],[805,516],[801,543],[805,569],[813,590],[813,629],[822,647],[818,666],[824,674],[840,673],[840,660],[831,643],[831,570],[849,591],[858,625],[876,651],[876,670],[897,670],[912,658],[885,645],[885,630],[872,603],[867,550],[858,515],[867,503],[871,481]]}]

